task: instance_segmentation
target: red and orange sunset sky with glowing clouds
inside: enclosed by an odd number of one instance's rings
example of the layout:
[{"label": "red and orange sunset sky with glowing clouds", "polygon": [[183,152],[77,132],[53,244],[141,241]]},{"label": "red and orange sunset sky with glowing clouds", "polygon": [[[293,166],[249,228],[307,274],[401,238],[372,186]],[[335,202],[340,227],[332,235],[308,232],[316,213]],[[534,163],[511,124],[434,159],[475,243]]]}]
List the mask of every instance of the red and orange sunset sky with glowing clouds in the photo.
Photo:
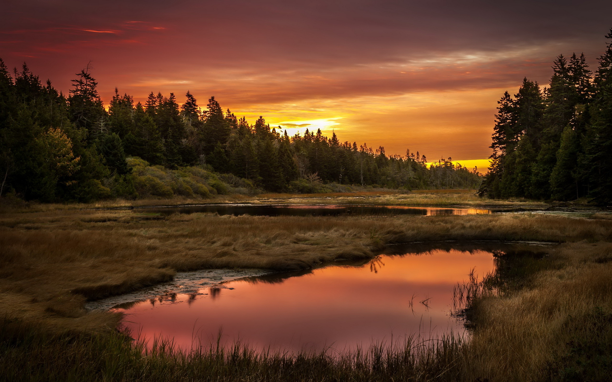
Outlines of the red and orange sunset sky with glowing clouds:
[{"label": "red and orange sunset sky with glowing clouds", "polygon": [[[558,54],[591,68],[610,1],[7,1],[0,58],[64,92],[88,62],[106,104],[187,90],[289,134],[419,151],[490,155],[497,101],[524,76],[545,85]],[[481,164],[482,166],[482,164]]]}]

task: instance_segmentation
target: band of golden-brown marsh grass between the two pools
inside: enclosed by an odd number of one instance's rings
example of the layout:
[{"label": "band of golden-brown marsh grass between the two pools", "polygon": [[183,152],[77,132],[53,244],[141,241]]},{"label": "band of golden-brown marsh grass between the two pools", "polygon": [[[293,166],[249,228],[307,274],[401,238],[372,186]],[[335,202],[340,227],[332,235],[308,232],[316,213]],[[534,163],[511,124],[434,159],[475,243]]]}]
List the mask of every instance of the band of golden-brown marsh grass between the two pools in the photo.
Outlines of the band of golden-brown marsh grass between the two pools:
[{"label": "band of golden-brown marsh grass between the two pools", "polygon": [[[201,268],[298,270],[369,259],[387,244],[439,240],[610,240],[612,221],[545,215],[274,218],[132,210],[11,213],[0,218],[0,314],[56,328],[113,325],[85,299]],[[105,321],[106,320],[106,321]]]}]

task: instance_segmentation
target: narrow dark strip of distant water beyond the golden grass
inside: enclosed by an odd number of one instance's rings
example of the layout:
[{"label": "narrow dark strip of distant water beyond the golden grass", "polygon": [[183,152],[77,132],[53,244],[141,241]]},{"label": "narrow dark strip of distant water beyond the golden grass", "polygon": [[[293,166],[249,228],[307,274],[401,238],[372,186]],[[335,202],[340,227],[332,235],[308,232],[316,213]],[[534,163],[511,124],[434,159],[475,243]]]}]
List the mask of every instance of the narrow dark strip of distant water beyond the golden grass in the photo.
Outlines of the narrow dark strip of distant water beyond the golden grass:
[{"label": "narrow dark strip of distant water beyond the golden grass", "polygon": [[204,204],[181,207],[138,208],[147,213],[209,212],[218,215],[259,215],[259,216],[342,216],[342,215],[479,215],[495,212],[490,208],[439,208],[406,207],[398,205],[342,205],[342,204]]}]

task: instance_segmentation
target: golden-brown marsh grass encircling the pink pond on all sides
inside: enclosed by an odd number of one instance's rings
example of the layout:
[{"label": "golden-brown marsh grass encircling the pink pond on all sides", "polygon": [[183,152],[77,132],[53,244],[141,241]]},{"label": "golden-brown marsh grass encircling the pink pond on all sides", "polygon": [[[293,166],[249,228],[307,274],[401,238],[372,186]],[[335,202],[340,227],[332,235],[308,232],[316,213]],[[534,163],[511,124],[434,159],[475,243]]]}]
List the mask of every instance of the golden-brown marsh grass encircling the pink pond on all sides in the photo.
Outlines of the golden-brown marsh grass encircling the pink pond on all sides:
[{"label": "golden-brown marsh grass encircling the pink pond on all sides", "polygon": [[[368,259],[387,244],[439,240],[564,244],[542,260],[548,266],[531,276],[528,287],[476,300],[475,329],[468,341],[446,339],[432,351],[416,347],[422,353],[411,358],[414,364],[406,363],[401,351],[388,353],[389,359],[400,361],[383,369],[367,364],[370,361],[364,361],[368,366],[353,364],[357,356],[351,354],[340,354],[341,362],[285,354],[275,356],[277,363],[272,364],[254,353],[219,357],[162,351],[141,357],[138,345],[132,348],[114,335],[59,345],[34,338],[31,348],[16,345],[14,353],[7,351],[6,360],[18,364],[40,354],[23,362],[44,370],[41,379],[61,369],[81,375],[77,380],[89,375],[92,380],[125,380],[127,375],[132,375],[129,380],[200,380],[210,375],[209,380],[264,381],[275,375],[298,381],[315,374],[315,380],[356,381],[392,376],[465,382],[607,380],[612,347],[612,221],[607,219],[536,214],[268,218],[196,213],[164,218],[132,210],[7,213],[0,216],[0,314],[45,331],[100,331],[115,328],[121,317],[85,312],[86,299],[164,281],[176,271],[299,269]],[[81,353],[89,355],[79,361],[75,354]],[[268,369],[285,364],[294,366]],[[309,366],[297,372],[300,364]],[[13,376],[18,375],[15,370]],[[62,373],[53,374],[55,380],[62,380]]]}]

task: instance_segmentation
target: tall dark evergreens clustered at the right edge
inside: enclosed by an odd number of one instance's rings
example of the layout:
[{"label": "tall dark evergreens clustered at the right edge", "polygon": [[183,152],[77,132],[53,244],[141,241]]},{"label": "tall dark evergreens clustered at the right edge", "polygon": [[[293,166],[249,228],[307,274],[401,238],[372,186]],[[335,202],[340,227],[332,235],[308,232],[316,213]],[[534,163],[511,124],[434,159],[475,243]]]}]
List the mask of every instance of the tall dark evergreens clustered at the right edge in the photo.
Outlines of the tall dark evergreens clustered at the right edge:
[{"label": "tall dark evergreens clustered at the right edge", "polygon": [[584,54],[559,55],[548,87],[525,78],[504,93],[480,194],[612,202],[612,42],[598,61],[592,73]]}]

